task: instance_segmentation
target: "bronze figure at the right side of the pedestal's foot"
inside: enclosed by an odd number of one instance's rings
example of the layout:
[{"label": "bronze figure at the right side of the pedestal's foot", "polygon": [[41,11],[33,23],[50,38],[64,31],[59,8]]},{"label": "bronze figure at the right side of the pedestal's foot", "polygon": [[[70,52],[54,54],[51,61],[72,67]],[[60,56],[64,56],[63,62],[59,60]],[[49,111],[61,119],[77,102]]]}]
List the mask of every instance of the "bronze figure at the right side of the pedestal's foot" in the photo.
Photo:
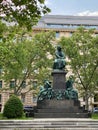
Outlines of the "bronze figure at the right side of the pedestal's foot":
[{"label": "bronze figure at the right side of the pedestal's foot", "polygon": [[73,88],[73,78],[72,76],[66,82],[66,90],[64,92],[65,98],[78,100],[78,92]]}]

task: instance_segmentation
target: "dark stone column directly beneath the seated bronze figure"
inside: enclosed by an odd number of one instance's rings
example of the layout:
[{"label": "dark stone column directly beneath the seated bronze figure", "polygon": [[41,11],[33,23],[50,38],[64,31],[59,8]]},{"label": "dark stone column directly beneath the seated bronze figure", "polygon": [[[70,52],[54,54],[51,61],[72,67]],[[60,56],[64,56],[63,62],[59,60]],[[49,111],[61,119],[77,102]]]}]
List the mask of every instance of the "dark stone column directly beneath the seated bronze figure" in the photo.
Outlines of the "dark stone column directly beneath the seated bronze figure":
[{"label": "dark stone column directly beneath the seated bronze figure", "polygon": [[65,75],[66,72],[62,71],[62,70],[55,70],[52,72],[52,76],[53,76],[53,89],[66,89],[66,84],[65,84]]}]

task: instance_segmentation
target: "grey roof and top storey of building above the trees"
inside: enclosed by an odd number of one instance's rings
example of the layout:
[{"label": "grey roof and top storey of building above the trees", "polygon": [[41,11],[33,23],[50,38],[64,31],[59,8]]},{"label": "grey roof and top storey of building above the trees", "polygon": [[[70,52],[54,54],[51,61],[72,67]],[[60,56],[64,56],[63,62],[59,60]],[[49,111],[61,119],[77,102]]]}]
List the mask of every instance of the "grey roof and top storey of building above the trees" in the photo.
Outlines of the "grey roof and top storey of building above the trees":
[{"label": "grey roof and top storey of building above the trees", "polygon": [[63,15],[45,15],[37,26],[33,27],[34,32],[54,30],[56,37],[69,37],[80,26],[87,29],[96,29],[95,35],[98,35],[98,17],[94,16],[63,16]]}]

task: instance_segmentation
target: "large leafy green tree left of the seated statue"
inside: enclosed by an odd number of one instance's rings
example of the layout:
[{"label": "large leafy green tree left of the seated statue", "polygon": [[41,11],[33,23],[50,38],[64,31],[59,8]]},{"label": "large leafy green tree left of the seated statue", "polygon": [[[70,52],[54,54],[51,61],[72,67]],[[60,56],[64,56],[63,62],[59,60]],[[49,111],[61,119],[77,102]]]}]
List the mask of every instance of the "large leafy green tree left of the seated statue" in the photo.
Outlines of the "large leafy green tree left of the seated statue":
[{"label": "large leafy green tree left of the seated statue", "polygon": [[20,95],[26,86],[28,89],[24,93],[34,89],[34,80],[41,83],[44,78],[49,78],[52,60],[48,55],[52,56],[54,52],[54,36],[53,32],[32,36],[18,26],[6,30],[0,41],[0,65],[3,69],[0,77],[6,82],[3,89],[9,90],[9,82],[13,80],[14,87],[10,89],[14,90],[15,95]]}]

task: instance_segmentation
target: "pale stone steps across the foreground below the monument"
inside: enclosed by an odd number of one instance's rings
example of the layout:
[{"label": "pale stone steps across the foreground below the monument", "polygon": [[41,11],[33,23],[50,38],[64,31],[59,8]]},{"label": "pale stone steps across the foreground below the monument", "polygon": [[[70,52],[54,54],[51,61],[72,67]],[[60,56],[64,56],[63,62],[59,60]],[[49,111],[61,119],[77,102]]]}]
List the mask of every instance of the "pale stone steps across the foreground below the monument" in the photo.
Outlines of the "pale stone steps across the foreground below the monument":
[{"label": "pale stone steps across the foreground below the monument", "polygon": [[98,120],[90,118],[0,120],[0,130],[98,130]]}]

